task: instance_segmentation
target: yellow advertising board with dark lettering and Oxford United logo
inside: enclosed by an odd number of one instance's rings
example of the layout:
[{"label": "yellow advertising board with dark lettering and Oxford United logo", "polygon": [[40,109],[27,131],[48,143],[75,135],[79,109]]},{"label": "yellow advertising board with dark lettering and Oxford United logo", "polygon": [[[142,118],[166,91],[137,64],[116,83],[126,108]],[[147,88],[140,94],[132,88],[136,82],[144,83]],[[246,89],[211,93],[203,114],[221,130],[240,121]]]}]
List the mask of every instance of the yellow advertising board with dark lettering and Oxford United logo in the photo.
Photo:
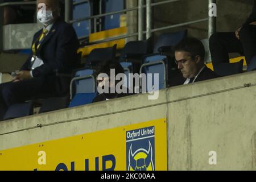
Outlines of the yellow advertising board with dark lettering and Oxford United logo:
[{"label": "yellow advertising board with dark lettering and Oxford United logo", "polygon": [[158,119],[3,150],[0,170],[167,170],[167,121]]}]

